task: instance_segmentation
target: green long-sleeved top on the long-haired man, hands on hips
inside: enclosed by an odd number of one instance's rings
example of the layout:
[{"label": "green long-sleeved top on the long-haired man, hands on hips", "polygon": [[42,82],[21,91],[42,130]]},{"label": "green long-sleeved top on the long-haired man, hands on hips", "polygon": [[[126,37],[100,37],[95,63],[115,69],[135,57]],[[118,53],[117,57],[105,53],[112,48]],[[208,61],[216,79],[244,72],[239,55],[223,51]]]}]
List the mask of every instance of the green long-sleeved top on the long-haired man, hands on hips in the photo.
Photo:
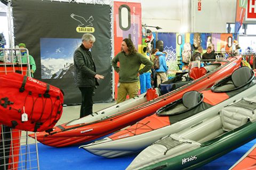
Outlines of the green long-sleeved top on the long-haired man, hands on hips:
[{"label": "green long-sleeved top on the long-haired man, hands on hips", "polygon": [[[117,62],[119,62],[119,67]],[[144,64],[145,67],[139,69],[140,64]],[[140,75],[147,72],[151,69],[153,63],[138,52],[134,55],[126,55],[124,52],[119,52],[112,60],[112,66],[119,73],[120,83],[132,83],[139,80],[138,72]]]}]

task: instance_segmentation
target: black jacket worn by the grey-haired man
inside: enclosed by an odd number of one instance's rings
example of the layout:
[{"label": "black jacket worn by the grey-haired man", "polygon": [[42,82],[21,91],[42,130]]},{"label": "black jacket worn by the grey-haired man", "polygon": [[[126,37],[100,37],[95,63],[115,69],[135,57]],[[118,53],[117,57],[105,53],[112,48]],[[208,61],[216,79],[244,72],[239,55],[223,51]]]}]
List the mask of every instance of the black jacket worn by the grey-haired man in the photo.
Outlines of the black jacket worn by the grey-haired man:
[{"label": "black jacket worn by the grey-haired man", "polygon": [[99,85],[96,75],[96,68],[89,49],[81,44],[74,52],[75,85],[77,87],[95,87]]}]

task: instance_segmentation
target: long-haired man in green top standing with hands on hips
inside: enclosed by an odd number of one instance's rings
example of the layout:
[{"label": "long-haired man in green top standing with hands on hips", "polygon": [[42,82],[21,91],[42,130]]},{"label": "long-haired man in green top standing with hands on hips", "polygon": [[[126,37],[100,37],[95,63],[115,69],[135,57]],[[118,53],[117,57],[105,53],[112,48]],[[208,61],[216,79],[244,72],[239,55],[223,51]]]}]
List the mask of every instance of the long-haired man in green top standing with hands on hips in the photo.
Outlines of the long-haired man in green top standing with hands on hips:
[{"label": "long-haired man in green top standing with hands on hips", "polygon": [[[142,69],[141,64],[145,65]],[[121,103],[125,101],[127,94],[130,99],[138,95],[139,75],[150,70],[153,63],[136,51],[131,39],[125,38],[121,44],[121,52],[112,60],[112,66],[119,74],[117,103]]]}]

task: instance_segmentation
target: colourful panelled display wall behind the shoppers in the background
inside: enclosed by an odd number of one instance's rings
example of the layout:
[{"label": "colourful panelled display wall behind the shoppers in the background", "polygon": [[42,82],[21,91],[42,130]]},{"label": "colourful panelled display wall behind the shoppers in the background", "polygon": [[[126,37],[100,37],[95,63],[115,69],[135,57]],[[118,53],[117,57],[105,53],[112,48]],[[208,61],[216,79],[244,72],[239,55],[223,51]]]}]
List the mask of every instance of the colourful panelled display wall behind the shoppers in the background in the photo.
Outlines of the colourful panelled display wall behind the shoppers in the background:
[{"label": "colourful panelled display wall behind the shoppers in the background", "polygon": [[[157,33],[157,40],[164,42],[164,51],[167,53],[166,62],[169,70],[177,70],[180,64],[183,45],[190,43],[191,50],[202,46],[204,52],[209,44],[214,45],[214,51],[231,51],[233,49],[233,34],[219,33]],[[155,40],[156,41],[156,40]],[[177,62],[178,61],[178,62]]]}]

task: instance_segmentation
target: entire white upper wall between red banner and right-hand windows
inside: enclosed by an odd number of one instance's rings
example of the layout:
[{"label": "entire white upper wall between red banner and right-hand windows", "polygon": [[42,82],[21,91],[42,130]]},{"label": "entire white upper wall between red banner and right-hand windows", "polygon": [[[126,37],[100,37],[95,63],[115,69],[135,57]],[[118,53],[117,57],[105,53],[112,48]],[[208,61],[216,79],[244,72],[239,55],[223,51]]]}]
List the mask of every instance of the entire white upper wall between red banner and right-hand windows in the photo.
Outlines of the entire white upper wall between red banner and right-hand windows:
[{"label": "entire white upper wall between red banner and right-hand windows", "polygon": [[142,23],[161,27],[161,32],[226,33],[226,23],[235,22],[236,0],[201,3],[202,10],[197,11],[198,0],[143,0]]}]

